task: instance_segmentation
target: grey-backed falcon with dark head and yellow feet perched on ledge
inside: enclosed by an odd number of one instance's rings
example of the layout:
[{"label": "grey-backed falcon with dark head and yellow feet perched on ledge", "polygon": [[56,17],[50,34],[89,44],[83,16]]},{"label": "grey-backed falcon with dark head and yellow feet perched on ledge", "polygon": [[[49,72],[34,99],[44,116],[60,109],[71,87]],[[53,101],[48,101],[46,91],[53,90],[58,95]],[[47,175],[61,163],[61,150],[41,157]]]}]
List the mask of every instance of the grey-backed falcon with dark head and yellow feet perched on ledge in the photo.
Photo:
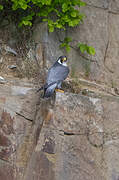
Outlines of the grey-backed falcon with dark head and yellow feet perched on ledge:
[{"label": "grey-backed falcon with dark head and yellow feet perched on ledge", "polygon": [[67,57],[60,56],[57,61],[49,68],[45,84],[40,89],[38,89],[38,91],[44,90],[43,98],[51,97],[55,90],[64,92],[61,90],[61,85],[62,82],[67,78],[68,74],[69,67],[67,66]]}]

